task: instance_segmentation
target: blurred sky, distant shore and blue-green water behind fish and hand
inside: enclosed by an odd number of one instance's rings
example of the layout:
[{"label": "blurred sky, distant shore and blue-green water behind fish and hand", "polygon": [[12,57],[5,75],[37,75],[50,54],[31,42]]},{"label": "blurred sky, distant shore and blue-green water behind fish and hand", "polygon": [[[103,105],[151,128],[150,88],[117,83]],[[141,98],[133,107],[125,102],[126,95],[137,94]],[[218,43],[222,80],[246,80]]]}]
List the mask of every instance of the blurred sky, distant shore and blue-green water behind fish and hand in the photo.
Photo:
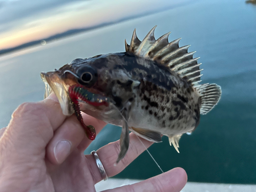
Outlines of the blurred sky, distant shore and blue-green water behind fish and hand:
[{"label": "blurred sky, distant shore and blue-green water behind fish and hand", "polygon": [[[75,58],[124,52],[134,28],[142,40],[158,25],[156,38],[201,57],[202,83],[222,87],[219,104],[191,135],[180,154],[168,138],[149,151],[164,171],[183,167],[188,181],[256,184],[256,5],[244,0],[14,1],[0,0],[0,127],[26,101],[43,99],[40,72]],[[119,139],[120,127],[107,125],[92,150]],[[146,179],[160,174],[147,153],[116,178]]]}]

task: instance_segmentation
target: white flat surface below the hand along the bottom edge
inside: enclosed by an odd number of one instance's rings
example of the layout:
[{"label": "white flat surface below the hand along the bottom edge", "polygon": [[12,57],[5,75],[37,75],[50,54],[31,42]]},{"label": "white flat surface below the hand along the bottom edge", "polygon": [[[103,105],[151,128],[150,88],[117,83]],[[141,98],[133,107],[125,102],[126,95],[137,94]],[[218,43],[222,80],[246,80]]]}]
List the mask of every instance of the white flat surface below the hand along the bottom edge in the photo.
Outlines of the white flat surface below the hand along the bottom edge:
[{"label": "white flat surface below the hand along the bottom edge", "polygon": [[[115,188],[127,184],[137,183],[140,180],[108,179],[95,185],[96,191]],[[181,192],[256,192],[256,185],[194,183],[188,182]]]}]

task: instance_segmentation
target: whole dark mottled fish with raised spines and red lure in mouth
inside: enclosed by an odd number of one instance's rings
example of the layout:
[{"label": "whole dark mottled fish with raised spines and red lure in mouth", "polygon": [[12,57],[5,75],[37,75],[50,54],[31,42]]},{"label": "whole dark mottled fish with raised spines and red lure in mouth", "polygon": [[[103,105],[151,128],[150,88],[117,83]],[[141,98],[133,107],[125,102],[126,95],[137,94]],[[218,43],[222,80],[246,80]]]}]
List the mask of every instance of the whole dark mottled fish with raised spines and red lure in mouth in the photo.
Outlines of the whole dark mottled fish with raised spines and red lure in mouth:
[{"label": "whole dark mottled fish with raised spines and red lure in mouth", "polygon": [[93,125],[83,122],[81,112],[122,127],[120,153],[129,148],[130,131],[153,142],[169,138],[179,153],[179,140],[195,131],[200,115],[219,102],[221,87],[201,84],[201,71],[190,46],[179,47],[181,38],[168,41],[166,33],[155,39],[155,26],[141,41],[133,32],[125,52],[77,58],[55,71],[41,73],[45,97],[54,92],[64,115],[75,113],[89,139]]}]

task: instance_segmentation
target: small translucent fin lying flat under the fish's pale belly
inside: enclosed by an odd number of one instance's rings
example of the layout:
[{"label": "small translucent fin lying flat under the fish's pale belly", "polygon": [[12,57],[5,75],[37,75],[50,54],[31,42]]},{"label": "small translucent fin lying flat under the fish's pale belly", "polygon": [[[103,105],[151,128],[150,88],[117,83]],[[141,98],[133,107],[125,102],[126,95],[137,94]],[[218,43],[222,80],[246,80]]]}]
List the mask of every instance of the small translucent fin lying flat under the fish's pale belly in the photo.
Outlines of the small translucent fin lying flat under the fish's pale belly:
[{"label": "small translucent fin lying flat under the fish's pale belly", "polygon": [[162,142],[161,134],[158,132],[150,131],[150,130],[145,130],[141,128],[135,128],[131,127],[134,134],[140,136],[143,139],[146,139],[148,141],[153,141],[155,143]]}]

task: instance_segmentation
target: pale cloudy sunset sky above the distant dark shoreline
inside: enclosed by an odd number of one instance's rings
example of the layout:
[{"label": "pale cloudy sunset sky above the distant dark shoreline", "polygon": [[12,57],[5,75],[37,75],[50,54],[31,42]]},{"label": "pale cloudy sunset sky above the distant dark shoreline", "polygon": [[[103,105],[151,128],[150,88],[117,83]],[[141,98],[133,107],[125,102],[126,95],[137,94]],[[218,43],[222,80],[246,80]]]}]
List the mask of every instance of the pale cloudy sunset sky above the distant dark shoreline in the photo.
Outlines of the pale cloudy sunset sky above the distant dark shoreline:
[{"label": "pale cloudy sunset sky above the distant dark shoreline", "polygon": [[166,9],[169,0],[0,0],[0,50],[70,29]]}]

